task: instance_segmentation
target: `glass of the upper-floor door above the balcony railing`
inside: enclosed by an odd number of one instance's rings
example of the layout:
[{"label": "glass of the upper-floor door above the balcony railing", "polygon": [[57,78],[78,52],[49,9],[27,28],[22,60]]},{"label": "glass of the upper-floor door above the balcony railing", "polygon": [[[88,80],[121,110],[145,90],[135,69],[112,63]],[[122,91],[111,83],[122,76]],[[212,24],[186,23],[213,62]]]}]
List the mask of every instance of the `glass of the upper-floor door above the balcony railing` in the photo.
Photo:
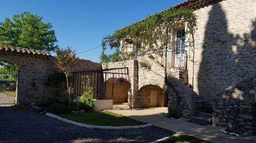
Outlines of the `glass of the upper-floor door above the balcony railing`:
[{"label": "glass of the upper-floor door above the balcony railing", "polygon": [[185,50],[185,29],[176,32],[176,50],[179,53],[180,50]]}]

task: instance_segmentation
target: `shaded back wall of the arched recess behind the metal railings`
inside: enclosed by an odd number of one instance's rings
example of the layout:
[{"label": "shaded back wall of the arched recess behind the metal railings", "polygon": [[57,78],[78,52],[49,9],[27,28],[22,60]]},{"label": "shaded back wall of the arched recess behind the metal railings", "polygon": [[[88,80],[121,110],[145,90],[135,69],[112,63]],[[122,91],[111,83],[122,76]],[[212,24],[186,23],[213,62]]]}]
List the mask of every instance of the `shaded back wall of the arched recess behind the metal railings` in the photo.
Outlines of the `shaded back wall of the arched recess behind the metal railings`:
[{"label": "shaded back wall of the arched recess behind the metal railings", "polygon": [[[128,102],[128,94],[129,94],[129,83],[126,84],[113,84],[114,77],[110,77],[106,80],[106,99],[113,99],[114,103],[124,103]],[[112,87],[114,85],[114,87]],[[113,91],[113,96],[112,96]]]}]

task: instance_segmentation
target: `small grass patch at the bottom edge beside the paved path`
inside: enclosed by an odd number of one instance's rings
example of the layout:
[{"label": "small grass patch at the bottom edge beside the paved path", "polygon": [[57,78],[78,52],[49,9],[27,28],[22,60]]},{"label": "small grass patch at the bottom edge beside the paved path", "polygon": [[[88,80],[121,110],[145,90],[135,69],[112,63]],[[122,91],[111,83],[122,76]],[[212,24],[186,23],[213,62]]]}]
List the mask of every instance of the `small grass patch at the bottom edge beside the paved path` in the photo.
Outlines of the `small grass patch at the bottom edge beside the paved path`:
[{"label": "small grass patch at the bottom edge beside the paved path", "polygon": [[201,140],[194,136],[189,136],[186,134],[179,134],[178,136],[172,136],[167,140],[160,141],[162,143],[209,143],[207,141]]}]

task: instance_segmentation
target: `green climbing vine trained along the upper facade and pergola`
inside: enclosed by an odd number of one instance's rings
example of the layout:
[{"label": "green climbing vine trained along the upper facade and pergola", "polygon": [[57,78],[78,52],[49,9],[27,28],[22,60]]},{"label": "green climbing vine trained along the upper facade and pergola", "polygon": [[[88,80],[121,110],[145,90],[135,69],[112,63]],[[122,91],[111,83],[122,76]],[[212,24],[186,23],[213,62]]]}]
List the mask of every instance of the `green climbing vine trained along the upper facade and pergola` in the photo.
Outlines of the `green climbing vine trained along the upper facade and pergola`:
[{"label": "green climbing vine trained along the upper facade and pergola", "polygon": [[[120,49],[121,44],[125,45],[125,43],[121,42],[127,43],[127,38],[129,38],[130,41],[133,41],[133,43],[138,43],[138,41],[143,43],[140,49],[141,53],[148,50],[163,50],[163,47],[166,45],[166,40],[172,38],[170,34],[166,36],[167,24],[168,33],[172,33],[174,28],[181,25],[186,25],[188,27],[187,32],[190,33],[191,30],[193,31],[193,28],[196,25],[196,16],[193,11],[194,10],[185,8],[170,8],[161,13],[148,16],[146,19],[137,22],[136,24],[132,24],[121,30],[115,31],[113,35],[104,37],[102,39],[102,53],[100,56],[100,62],[109,63],[129,59],[129,57],[133,55],[133,52],[129,53],[132,55],[128,55],[125,53],[124,49]],[[111,49],[115,48],[115,52],[109,56],[105,54],[105,50],[108,46]],[[126,56],[120,56],[120,54],[125,54]],[[163,54],[161,54],[161,56],[163,56]]]}]

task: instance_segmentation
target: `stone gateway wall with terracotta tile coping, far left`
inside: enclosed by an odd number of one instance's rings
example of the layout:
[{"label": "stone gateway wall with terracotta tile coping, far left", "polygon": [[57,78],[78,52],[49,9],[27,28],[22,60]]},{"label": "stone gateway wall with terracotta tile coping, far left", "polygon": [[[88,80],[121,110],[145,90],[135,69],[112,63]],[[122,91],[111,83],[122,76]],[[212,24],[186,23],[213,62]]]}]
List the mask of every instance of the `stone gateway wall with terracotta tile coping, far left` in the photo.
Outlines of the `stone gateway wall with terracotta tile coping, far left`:
[{"label": "stone gateway wall with terracotta tile coping, far left", "polygon": [[0,45],[0,58],[18,66],[18,104],[44,103],[52,95],[46,85],[54,70],[54,57],[49,53]]}]

